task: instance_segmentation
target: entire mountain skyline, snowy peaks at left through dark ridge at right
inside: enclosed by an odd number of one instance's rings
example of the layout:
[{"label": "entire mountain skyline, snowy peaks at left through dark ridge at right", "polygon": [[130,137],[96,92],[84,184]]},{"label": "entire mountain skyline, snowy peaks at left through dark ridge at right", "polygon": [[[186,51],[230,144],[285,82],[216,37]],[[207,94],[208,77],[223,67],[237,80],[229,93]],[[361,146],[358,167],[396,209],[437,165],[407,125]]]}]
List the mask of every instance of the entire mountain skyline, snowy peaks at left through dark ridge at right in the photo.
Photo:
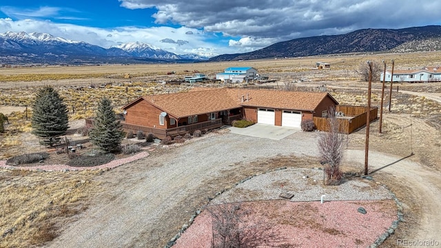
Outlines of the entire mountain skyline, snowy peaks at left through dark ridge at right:
[{"label": "entire mountain skyline, snowy peaks at left through dark ridge at right", "polygon": [[360,52],[417,52],[441,49],[441,25],[402,29],[363,29],[338,35],[292,39],[242,54],[208,58],[174,54],[140,42],[102,48],[51,34],[6,32],[0,34],[0,63],[176,63],[238,61]]}]

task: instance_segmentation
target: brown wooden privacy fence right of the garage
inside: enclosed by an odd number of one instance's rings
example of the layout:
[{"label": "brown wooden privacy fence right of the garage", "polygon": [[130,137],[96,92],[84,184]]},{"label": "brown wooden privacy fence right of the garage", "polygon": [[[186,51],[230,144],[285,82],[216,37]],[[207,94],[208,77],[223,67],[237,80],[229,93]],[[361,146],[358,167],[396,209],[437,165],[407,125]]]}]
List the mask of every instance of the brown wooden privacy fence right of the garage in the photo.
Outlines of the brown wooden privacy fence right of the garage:
[{"label": "brown wooden privacy fence right of the garage", "polygon": [[[343,134],[351,134],[358,128],[366,125],[367,107],[360,106],[336,106],[336,112],[345,114],[343,117],[337,117],[339,132]],[[369,123],[378,118],[378,107],[371,107]],[[316,130],[328,131],[328,118],[314,117],[314,125]]]}]

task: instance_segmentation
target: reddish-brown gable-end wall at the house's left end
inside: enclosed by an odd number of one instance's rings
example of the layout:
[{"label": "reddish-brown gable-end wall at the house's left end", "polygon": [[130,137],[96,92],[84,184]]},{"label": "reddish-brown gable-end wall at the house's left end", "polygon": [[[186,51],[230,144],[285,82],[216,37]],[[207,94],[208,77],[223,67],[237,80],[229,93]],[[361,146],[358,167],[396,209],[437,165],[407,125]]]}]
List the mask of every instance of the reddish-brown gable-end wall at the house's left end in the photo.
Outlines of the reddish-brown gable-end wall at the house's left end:
[{"label": "reddish-brown gable-end wall at the house's left end", "polygon": [[141,100],[127,108],[126,111],[125,123],[127,124],[167,129],[168,118],[165,118],[165,125],[159,125],[159,114],[162,111],[147,101]]}]

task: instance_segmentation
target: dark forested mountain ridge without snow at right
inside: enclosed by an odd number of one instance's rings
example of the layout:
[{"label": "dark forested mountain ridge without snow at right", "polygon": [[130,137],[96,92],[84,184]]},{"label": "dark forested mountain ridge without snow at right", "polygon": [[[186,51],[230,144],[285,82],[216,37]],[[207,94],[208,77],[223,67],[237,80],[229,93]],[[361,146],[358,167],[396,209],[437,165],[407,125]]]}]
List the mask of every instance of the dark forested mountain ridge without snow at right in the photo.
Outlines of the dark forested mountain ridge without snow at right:
[{"label": "dark forested mountain ridge without snow at right", "polygon": [[322,35],[283,41],[242,54],[223,54],[209,61],[314,56],[359,52],[417,52],[439,50],[441,25],[402,29],[363,29],[339,35]]}]

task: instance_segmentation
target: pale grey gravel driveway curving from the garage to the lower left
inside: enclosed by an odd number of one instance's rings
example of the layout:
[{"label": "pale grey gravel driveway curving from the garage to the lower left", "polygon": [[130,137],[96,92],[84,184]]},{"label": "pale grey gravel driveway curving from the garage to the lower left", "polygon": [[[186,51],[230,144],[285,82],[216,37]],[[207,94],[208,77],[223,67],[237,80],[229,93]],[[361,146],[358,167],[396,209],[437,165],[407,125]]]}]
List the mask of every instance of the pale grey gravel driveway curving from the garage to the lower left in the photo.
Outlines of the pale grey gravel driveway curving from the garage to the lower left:
[{"label": "pale grey gravel driveway curving from the garage to the lower left", "polygon": [[316,156],[316,136],[298,132],[274,141],[209,134],[192,144],[112,169],[99,180],[114,191],[97,196],[90,209],[66,227],[50,247],[152,247],[152,243],[171,237],[166,230],[178,228],[159,221],[174,218],[176,205],[198,194],[203,180],[259,158]]}]

